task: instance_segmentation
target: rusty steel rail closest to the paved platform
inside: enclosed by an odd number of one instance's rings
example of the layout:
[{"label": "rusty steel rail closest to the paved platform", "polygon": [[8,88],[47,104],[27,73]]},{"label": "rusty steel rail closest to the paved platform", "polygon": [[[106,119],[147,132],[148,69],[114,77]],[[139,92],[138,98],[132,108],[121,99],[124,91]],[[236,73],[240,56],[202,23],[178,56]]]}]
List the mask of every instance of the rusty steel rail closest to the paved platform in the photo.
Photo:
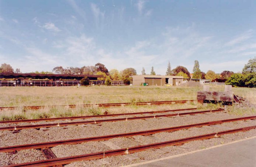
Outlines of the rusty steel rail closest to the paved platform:
[{"label": "rusty steel rail closest to the paved platform", "polygon": [[189,137],[189,138],[182,138],[182,139],[177,139],[177,140],[172,140],[172,141],[159,142],[159,143],[135,146],[135,147],[130,147],[130,148],[109,150],[109,151],[105,151],[105,152],[97,152],[97,153],[83,154],[83,155],[78,155],[78,156],[32,161],[32,162],[28,162],[28,163],[12,164],[12,165],[8,165],[7,167],[24,167],[24,166],[26,166],[26,167],[30,167],[30,166],[49,167],[49,166],[56,166],[56,165],[65,165],[65,164],[69,164],[69,163],[72,163],[75,161],[102,159],[105,157],[132,154],[135,152],[141,152],[141,151],[145,151],[145,150],[149,150],[149,149],[158,149],[158,148],[163,148],[166,146],[182,145],[184,143],[188,143],[191,141],[216,138],[216,137],[219,137],[219,136],[222,136],[225,134],[232,134],[232,133],[241,132],[241,131],[249,131],[250,129],[255,129],[255,128],[256,128],[256,125],[251,126],[251,127],[231,129],[228,131],[220,131],[220,132],[215,132],[215,133],[211,133],[211,134],[193,136],[193,137]]}]

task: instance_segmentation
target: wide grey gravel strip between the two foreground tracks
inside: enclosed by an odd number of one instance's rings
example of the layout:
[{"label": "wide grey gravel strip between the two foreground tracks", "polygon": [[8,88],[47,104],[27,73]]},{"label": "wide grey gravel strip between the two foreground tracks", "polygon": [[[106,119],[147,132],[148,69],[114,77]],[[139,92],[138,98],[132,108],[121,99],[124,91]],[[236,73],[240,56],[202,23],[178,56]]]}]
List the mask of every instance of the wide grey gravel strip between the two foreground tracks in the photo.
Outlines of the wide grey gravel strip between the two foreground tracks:
[{"label": "wide grey gravel strip between the two foreground tracks", "polygon": [[[36,142],[48,142],[67,139],[77,139],[92,136],[111,135],[149,129],[167,128],[200,122],[237,118],[239,116],[227,113],[197,114],[195,116],[175,116],[149,118],[146,120],[103,122],[101,124],[70,125],[67,127],[51,127],[37,129],[23,129],[20,131],[0,131],[0,146],[21,145]],[[10,140],[17,138],[19,140]]]}]

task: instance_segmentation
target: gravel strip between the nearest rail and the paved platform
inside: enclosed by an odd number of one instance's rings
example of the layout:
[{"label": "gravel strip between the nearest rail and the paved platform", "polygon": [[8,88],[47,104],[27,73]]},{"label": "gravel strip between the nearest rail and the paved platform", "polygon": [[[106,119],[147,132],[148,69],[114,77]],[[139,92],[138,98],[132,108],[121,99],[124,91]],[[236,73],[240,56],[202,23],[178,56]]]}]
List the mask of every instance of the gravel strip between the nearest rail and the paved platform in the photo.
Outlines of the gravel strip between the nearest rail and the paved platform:
[{"label": "gravel strip between the nearest rail and the paved platform", "polygon": [[[140,157],[139,160],[128,160],[126,159],[124,156],[113,156],[113,157],[106,157],[104,159],[104,161],[106,161],[107,163],[104,165],[96,165],[94,163],[94,160],[90,160],[90,161],[79,161],[79,162],[74,162],[74,163],[70,163],[65,165],[65,167],[75,167],[75,166],[101,166],[101,167],[113,167],[113,166],[124,166],[124,165],[128,165],[128,164],[134,164],[134,163],[139,163],[139,162],[143,162],[143,161],[149,161],[149,160],[153,160],[153,159],[158,159],[158,158],[162,158],[162,157],[168,157],[168,156],[173,156],[173,155],[177,155],[177,154],[181,154],[181,153],[186,153],[186,152],[190,152],[190,151],[194,151],[194,150],[199,150],[199,149],[205,149],[205,148],[209,148],[212,146],[216,146],[216,145],[221,145],[224,143],[229,143],[232,141],[237,141],[237,140],[241,140],[241,139],[245,139],[245,138],[249,138],[249,137],[253,137],[256,134],[256,129],[252,129],[250,131],[247,132],[238,132],[235,134],[226,134],[223,135],[219,138],[212,138],[212,139],[207,139],[207,140],[203,140],[203,141],[193,141],[193,142],[189,142],[189,143],[185,143],[184,145],[181,146],[167,146],[165,148],[161,148],[161,150],[164,150],[165,152],[163,153],[159,153],[158,150],[159,149],[150,149],[150,150],[146,150],[143,152],[137,152],[137,153],[133,153],[131,155],[135,155]],[[103,160],[103,159],[101,159]]]}]

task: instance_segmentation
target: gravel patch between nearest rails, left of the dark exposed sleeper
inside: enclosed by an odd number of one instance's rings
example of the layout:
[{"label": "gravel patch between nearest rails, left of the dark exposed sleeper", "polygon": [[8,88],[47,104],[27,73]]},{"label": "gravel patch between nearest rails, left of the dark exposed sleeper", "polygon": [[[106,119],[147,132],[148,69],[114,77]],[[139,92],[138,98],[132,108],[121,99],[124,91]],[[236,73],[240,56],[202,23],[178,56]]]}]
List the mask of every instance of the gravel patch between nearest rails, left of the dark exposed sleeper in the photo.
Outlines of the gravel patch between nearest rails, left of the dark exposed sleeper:
[{"label": "gravel patch between nearest rails, left of the dark exposed sleeper", "polygon": [[17,153],[0,153],[0,166],[44,160],[40,150],[21,150]]}]

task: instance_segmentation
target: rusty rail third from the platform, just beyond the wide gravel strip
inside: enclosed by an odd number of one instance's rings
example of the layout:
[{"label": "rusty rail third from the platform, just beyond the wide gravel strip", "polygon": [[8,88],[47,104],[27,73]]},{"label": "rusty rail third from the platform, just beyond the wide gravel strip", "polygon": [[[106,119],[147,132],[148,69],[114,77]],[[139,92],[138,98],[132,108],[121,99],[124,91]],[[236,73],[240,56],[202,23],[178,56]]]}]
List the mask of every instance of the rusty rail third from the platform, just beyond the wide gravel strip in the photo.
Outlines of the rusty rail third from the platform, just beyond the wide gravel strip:
[{"label": "rusty rail third from the platform, just beyond the wide gravel strip", "polygon": [[144,117],[116,118],[116,119],[108,119],[108,120],[77,121],[77,122],[62,122],[62,123],[53,123],[53,124],[10,126],[10,127],[0,127],[0,131],[3,131],[3,130],[21,130],[21,129],[29,129],[29,128],[49,128],[49,127],[56,127],[56,126],[57,127],[62,127],[62,126],[68,126],[68,125],[81,125],[81,124],[97,124],[97,123],[101,123],[101,122],[141,120],[141,119],[146,119],[146,118],[172,117],[172,116],[181,116],[181,115],[189,115],[189,114],[201,114],[201,113],[210,113],[210,112],[219,112],[219,111],[224,111],[224,109],[195,111],[195,112],[188,112],[188,113],[176,113],[176,114],[166,114],[166,115],[155,115],[155,116],[144,116]]}]

